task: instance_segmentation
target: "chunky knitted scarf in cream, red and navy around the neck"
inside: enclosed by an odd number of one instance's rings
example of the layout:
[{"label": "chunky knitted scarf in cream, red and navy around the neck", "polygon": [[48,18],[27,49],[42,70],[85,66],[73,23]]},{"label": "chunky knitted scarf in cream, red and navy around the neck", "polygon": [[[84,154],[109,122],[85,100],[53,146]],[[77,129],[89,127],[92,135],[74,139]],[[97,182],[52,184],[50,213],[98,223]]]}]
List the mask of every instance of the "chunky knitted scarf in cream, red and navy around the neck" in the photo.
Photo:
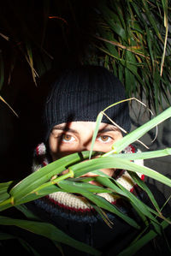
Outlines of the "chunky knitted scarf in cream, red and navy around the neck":
[{"label": "chunky knitted scarf in cream, red and navy around the neck", "polygon": [[[139,149],[136,149],[135,146],[127,146],[127,148],[122,153],[135,153],[140,152]],[[135,160],[134,163],[143,165],[143,160]],[[39,144],[34,152],[32,171],[39,170],[40,168],[50,164],[48,159],[48,154],[46,152],[46,146],[44,143]],[[141,175],[137,172],[141,180],[144,180],[144,175]],[[127,188],[130,192],[136,188],[135,182],[131,176],[129,176],[127,170],[115,170],[115,180],[119,182],[124,188]],[[108,200],[109,203],[113,205],[121,206],[121,199],[118,198],[118,195],[111,193],[97,193],[99,196]],[[85,222],[94,222],[97,217],[97,212],[94,210],[92,205],[87,199],[83,196],[66,193],[66,192],[55,192],[50,193],[44,198],[35,200],[35,204],[38,205],[41,209],[48,212],[51,217],[62,216],[68,219],[73,218],[77,221]],[[124,211],[122,209],[122,211]]]}]

